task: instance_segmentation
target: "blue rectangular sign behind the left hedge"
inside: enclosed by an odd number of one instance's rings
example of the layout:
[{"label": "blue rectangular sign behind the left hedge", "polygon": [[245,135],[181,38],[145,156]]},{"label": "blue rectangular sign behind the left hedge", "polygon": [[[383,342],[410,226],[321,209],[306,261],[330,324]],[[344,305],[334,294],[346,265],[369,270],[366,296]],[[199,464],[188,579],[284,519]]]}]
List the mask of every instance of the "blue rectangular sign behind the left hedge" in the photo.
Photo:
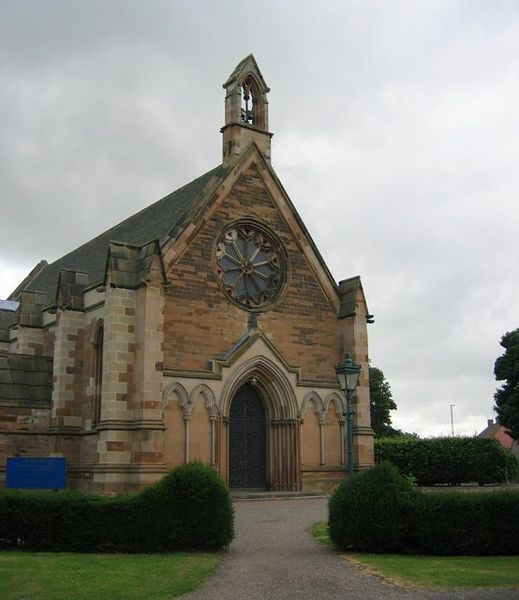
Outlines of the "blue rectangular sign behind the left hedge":
[{"label": "blue rectangular sign behind the left hedge", "polygon": [[8,458],[6,487],[30,490],[61,490],[65,487],[64,458]]}]

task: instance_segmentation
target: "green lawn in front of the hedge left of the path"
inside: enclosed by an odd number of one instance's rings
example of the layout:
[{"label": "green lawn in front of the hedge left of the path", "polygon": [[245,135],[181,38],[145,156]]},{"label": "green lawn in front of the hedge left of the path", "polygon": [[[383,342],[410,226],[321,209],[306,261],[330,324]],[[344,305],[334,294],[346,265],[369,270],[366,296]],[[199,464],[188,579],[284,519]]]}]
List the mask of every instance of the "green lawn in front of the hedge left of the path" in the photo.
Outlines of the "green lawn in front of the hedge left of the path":
[{"label": "green lawn in front of the hedge left of the path", "polygon": [[2,600],[166,600],[197,588],[218,554],[0,552]]}]

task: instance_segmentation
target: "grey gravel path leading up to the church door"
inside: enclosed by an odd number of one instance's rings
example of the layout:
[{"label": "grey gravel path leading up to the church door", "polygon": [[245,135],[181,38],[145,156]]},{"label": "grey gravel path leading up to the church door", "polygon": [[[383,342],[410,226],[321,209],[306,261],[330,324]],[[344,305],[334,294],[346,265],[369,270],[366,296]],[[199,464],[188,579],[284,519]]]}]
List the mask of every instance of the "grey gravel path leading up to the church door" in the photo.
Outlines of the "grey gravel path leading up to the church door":
[{"label": "grey gravel path leading up to the church door", "polygon": [[316,542],[324,498],[235,502],[236,539],[216,572],[186,600],[518,600],[516,591],[425,592],[390,584]]}]

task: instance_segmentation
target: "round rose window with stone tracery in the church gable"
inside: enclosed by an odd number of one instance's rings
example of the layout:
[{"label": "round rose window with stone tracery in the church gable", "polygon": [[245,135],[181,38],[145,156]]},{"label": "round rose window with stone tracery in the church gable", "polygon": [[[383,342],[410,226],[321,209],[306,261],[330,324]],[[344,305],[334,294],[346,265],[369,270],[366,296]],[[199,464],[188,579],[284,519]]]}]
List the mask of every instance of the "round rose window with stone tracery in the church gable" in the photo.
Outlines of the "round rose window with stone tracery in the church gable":
[{"label": "round rose window with stone tracery in the church gable", "polygon": [[216,245],[216,270],[229,298],[259,310],[279,295],[286,261],[281,243],[250,224],[230,226]]}]

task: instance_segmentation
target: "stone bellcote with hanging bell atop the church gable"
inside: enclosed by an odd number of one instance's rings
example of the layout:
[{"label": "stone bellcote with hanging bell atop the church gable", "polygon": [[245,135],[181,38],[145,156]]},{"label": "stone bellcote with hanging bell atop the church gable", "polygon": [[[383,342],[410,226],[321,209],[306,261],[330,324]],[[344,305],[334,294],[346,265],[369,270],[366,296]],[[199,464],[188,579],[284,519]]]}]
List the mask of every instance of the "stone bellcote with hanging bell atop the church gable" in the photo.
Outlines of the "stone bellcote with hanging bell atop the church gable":
[{"label": "stone bellcote with hanging bell atop the church gable", "polygon": [[225,95],[225,125],[223,133],[223,163],[228,164],[255,142],[270,162],[268,130],[268,100],[270,88],[265,83],[252,54],[244,58],[223,84]]}]

